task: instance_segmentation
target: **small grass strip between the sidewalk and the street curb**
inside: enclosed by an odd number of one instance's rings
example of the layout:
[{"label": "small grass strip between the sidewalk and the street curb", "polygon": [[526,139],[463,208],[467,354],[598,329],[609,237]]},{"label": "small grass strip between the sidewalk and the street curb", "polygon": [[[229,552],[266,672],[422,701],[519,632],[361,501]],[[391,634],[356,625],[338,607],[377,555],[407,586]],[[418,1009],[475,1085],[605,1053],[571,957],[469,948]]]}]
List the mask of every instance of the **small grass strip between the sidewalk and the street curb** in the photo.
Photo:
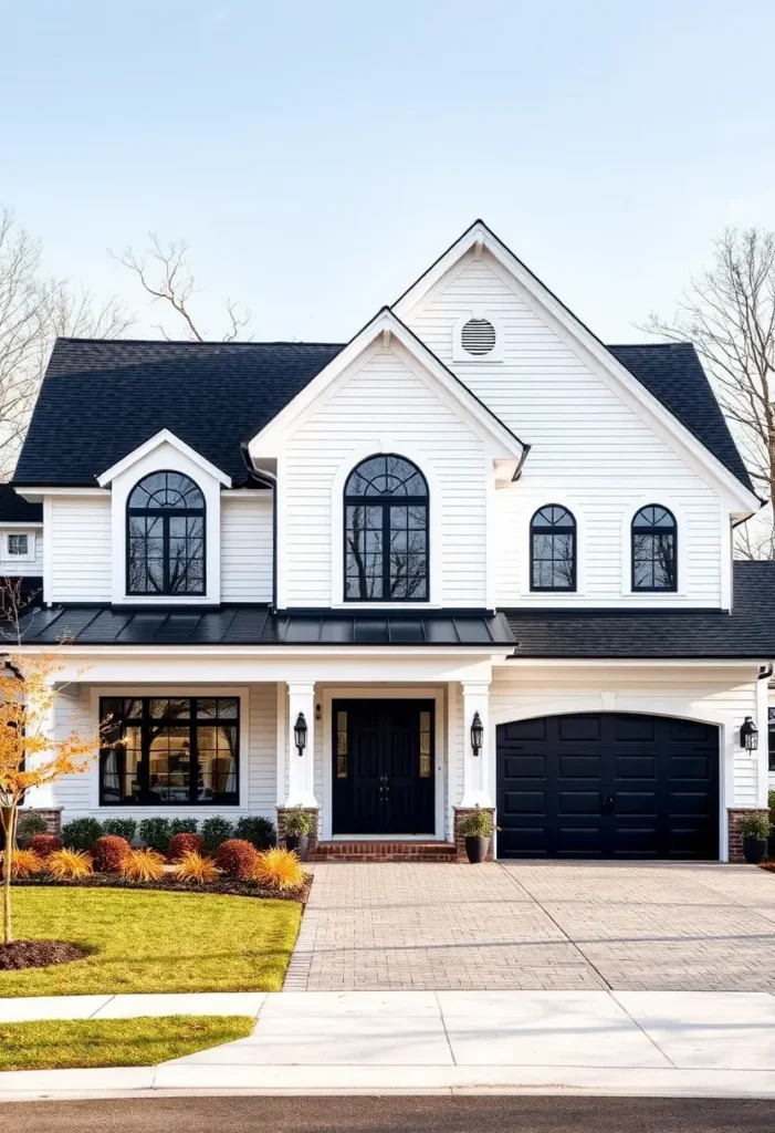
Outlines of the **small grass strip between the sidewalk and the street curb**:
[{"label": "small grass strip between the sidewalk and the street curb", "polygon": [[250,1034],[250,1015],[68,1019],[0,1024],[0,1071],[156,1066]]}]

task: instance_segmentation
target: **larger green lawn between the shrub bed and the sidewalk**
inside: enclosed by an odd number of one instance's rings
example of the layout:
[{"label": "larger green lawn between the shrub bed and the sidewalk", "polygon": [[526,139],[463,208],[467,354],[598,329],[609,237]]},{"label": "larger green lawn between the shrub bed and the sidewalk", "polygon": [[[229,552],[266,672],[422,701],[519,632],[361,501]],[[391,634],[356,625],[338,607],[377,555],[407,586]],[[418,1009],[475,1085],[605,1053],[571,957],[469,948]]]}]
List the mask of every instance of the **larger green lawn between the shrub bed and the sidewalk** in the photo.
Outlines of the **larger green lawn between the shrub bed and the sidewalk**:
[{"label": "larger green lawn between the shrub bed and the sidewalk", "polygon": [[91,955],[0,971],[0,996],[278,991],[300,921],[294,901],[17,886],[17,939],[72,940]]}]

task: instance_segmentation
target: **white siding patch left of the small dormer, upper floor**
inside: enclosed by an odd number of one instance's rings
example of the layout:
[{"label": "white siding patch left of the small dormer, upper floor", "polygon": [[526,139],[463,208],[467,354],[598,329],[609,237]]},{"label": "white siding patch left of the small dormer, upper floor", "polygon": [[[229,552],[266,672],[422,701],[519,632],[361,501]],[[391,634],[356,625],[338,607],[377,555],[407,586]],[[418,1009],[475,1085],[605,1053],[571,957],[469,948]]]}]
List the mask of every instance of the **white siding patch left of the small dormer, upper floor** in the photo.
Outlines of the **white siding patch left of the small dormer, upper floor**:
[{"label": "white siding patch left of the small dormer, upper floor", "polygon": [[111,499],[52,496],[49,602],[111,600]]}]

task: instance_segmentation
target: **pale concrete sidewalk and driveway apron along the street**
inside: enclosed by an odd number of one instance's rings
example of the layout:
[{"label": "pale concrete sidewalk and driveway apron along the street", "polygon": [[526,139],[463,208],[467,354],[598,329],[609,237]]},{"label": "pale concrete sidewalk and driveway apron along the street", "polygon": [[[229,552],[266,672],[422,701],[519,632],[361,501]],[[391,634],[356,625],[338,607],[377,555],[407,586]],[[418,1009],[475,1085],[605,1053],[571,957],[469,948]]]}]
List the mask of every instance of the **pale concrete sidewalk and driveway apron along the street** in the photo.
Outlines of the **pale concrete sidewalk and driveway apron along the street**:
[{"label": "pale concrete sidewalk and driveway apron along the street", "polygon": [[[81,1004],[80,999],[89,1003]],[[252,1036],[152,1068],[0,1074],[0,1099],[470,1092],[775,1098],[775,996],[348,991],[71,998],[69,1017],[258,1012]],[[195,1000],[198,1000],[195,1002]],[[239,1003],[238,1003],[239,1000]],[[0,1000],[67,1017],[61,998]]]}]

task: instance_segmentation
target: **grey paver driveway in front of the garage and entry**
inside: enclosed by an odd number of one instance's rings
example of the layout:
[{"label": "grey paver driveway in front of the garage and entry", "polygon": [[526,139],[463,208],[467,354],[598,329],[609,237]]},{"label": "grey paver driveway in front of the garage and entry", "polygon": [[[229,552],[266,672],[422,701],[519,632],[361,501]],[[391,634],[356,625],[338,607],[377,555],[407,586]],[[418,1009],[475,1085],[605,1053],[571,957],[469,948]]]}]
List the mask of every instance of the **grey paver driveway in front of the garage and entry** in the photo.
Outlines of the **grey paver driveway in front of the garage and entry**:
[{"label": "grey paver driveway in front of the garage and entry", "polygon": [[397,988],[775,991],[775,874],[317,866],[285,989]]}]

